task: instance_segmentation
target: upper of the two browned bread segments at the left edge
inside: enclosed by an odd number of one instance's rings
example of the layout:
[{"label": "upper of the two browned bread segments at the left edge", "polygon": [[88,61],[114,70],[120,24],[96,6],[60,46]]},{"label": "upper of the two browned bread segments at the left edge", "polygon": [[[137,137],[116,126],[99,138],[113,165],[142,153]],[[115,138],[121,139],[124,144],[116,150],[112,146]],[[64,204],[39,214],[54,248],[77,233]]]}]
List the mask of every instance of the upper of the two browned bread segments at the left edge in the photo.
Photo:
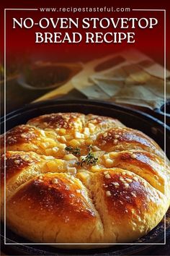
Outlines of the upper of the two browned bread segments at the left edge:
[{"label": "upper of the two browned bread segments at the left edge", "polygon": [[[33,151],[40,155],[65,155],[66,141],[59,142],[54,137],[36,127],[19,125],[6,132],[6,151]],[[4,135],[1,136],[1,153],[4,153]]]}]

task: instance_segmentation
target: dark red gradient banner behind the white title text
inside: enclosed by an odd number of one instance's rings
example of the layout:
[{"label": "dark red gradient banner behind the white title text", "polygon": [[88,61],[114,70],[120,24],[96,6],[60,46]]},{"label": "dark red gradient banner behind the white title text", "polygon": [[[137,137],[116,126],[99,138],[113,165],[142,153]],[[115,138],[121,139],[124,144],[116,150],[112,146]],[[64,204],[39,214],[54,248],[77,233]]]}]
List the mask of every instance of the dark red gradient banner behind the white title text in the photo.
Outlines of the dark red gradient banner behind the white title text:
[{"label": "dark red gradient banner behind the white title text", "polygon": [[[168,1],[1,1],[3,8],[39,8],[39,7],[130,7],[130,9],[166,9],[166,62],[169,62],[169,3]],[[4,9],[1,9],[1,57],[3,59],[3,30],[4,30]],[[35,29],[12,29],[12,17],[32,17],[38,20],[41,17],[156,17],[158,25],[153,29],[135,28],[135,43],[35,43]],[[73,29],[74,30],[74,29]],[[73,30],[69,30],[73,32]],[[39,30],[40,31],[40,30]],[[57,32],[47,29],[46,32]],[[67,30],[62,30],[63,32]],[[75,30],[84,33],[84,30]],[[90,31],[90,30],[89,30]],[[98,32],[112,31],[108,29],[97,29]],[[124,30],[121,30],[124,32]],[[126,30],[128,32],[130,30]],[[118,32],[118,31],[117,31]],[[40,12],[40,11],[6,11],[6,57],[7,61],[19,57],[22,59],[48,59],[54,61],[87,61],[95,57],[115,53],[132,46],[151,56],[160,64],[164,64],[164,12]],[[8,68],[8,66],[7,66]]]}]

